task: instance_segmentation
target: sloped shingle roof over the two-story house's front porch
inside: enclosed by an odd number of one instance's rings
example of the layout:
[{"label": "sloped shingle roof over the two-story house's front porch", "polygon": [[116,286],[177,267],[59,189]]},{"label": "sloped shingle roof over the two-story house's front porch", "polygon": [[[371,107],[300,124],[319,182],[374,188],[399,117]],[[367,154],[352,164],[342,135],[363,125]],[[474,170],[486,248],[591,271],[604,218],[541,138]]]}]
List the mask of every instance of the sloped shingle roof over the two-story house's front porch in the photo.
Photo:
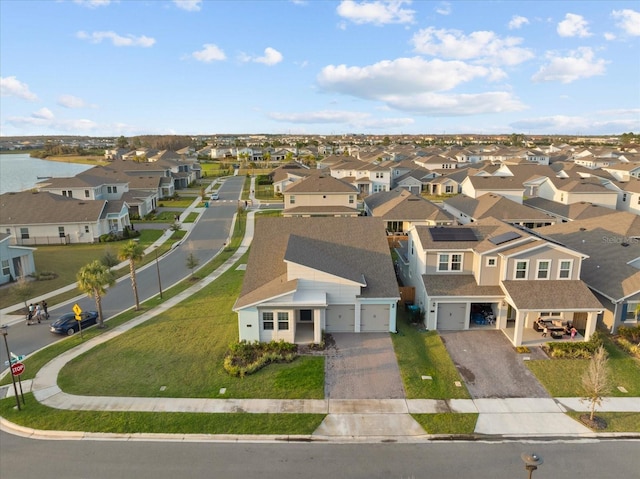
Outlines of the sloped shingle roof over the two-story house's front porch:
[{"label": "sloped shingle roof over the two-story house's front porch", "polygon": [[598,311],[602,304],[580,280],[503,281],[518,309],[534,311]]}]

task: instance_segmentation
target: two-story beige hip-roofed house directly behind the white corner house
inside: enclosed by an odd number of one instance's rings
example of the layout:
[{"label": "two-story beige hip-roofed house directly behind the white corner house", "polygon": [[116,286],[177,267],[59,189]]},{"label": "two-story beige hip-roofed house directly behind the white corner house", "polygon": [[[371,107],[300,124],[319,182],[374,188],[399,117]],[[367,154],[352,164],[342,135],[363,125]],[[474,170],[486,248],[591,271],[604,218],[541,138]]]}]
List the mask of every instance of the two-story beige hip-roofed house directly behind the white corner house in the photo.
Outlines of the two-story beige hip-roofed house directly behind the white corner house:
[{"label": "two-story beige hip-roofed house directly behind the white corner house", "polygon": [[331,175],[315,172],[284,189],[282,215],[359,216],[358,189]]}]

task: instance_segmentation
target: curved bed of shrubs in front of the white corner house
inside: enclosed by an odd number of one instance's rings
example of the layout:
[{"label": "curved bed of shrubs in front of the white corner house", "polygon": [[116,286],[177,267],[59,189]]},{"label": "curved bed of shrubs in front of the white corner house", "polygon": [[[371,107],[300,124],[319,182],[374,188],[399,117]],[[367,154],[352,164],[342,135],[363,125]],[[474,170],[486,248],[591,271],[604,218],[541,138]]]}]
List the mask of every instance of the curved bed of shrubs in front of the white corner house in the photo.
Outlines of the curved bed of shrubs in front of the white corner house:
[{"label": "curved bed of shrubs in front of the white corner house", "polygon": [[253,374],[271,363],[290,363],[298,357],[298,346],[284,341],[268,343],[240,341],[229,345],[224,369],[235,377]]}]

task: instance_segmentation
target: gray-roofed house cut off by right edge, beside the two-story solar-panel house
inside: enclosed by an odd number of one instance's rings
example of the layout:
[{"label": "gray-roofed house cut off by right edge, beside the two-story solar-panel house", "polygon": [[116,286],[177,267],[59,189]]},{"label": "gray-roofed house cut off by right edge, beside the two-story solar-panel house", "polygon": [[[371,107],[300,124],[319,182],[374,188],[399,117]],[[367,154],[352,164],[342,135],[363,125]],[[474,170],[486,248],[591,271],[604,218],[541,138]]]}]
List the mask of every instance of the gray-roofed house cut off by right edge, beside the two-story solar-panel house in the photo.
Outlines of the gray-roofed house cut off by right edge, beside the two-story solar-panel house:
[{"label": "gray-roofed house cut off by right edge, beside the two-story solar-panel house", "polygon": [[[604,209],[604,208],[603,208]],[[640,311],[640,217],[609,212],[547,226],[536,234],[585,255],[582,280],[603,305],[600,321],[612,333],[638,324]]]}]

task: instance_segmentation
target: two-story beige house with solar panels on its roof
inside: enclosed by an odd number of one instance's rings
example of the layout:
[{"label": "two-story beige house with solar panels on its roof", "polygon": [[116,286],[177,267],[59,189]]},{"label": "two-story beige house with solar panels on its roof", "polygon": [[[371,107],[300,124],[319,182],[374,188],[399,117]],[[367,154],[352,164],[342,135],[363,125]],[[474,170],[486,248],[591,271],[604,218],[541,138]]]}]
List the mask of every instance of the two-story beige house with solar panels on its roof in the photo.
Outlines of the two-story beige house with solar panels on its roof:
[{"label": "two-story beige house with solar panels on its roof", "polygon": [[[580,280],[583,253],[541,239],[496,219],[468,226],[416,226],[408,231],[403,283],[427,329],[488,327],[514,346],[539,340],[538,317],[571,322],[589,339],[600,301]],[[495,320],[476,324],[474,314]]]}]

